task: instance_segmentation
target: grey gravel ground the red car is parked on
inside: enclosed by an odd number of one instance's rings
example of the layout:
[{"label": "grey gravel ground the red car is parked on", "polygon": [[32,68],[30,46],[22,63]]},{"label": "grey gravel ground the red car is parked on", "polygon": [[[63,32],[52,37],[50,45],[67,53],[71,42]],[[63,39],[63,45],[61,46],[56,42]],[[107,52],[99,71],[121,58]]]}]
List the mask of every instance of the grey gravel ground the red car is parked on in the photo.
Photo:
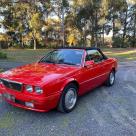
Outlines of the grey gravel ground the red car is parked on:
[{"label": "grey gravel ground the red car is parked on", "polygon": [[[0,62],[1,68],[22,63]],[[113,87],[82,96],[69,114],[38,113],[13,107],[0,98],[0,136],[135,136],[136,62],[120,63]]]}]

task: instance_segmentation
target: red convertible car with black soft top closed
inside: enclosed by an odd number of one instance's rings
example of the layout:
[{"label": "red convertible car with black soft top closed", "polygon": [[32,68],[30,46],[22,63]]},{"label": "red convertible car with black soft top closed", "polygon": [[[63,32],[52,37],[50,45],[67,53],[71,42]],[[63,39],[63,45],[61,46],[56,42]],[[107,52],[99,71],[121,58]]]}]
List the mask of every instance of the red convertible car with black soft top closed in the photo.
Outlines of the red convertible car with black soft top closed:
[{"label": "red convertible car with black soft top closed", "polygon": [[68,113],[78,96],[115,82],[117,60],[98,48],[60,48],[39,62],[0,74],[0,93],[16,107],[47,112],[57,108]]}]

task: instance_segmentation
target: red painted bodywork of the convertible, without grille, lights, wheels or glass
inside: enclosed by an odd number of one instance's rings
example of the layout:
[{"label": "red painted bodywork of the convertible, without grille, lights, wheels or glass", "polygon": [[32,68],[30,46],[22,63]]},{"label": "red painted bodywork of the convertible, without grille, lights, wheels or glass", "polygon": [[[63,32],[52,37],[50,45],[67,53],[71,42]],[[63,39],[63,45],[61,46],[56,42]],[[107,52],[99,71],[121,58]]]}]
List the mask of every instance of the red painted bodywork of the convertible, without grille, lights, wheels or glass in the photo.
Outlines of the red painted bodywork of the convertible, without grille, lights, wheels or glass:
[{"label": "red painted bodywork of the convertible, without grille, lights, wheels or glass", "polygon": [[84,53],[81,66],[34,63],[0,75],[0,78],[23,83],[23,86],[39,86],[44,91],[41,95],[28,93],[24,89],[18,92],[3,85],[0,85],[0,93],[8,93],[20,101],[34,103],[34,108],[29,108],[5,99],[14,106],[40,112],[49,111],[57,106],[61,93],[68,83],[77,82],[79,84],[78,94],[83,95],[104,83],[113,68],[117,70],[117,61],[113,58],[108,58],[88,68],[84,67],[85,55],[86,53]]}]

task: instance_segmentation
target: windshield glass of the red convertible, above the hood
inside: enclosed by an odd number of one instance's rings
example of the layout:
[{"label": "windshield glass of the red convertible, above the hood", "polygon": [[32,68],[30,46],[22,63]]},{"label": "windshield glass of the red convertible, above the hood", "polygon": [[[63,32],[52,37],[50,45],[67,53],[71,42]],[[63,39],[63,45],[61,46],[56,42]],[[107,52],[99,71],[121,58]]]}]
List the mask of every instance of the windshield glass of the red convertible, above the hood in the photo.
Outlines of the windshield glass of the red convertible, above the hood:
[{"label": "windshield glass of the red convertible, above the hood", "polygon": [[78,49],[58,49],[50,52],[42,58],[42,63],[81,65],[83,50]]}]

